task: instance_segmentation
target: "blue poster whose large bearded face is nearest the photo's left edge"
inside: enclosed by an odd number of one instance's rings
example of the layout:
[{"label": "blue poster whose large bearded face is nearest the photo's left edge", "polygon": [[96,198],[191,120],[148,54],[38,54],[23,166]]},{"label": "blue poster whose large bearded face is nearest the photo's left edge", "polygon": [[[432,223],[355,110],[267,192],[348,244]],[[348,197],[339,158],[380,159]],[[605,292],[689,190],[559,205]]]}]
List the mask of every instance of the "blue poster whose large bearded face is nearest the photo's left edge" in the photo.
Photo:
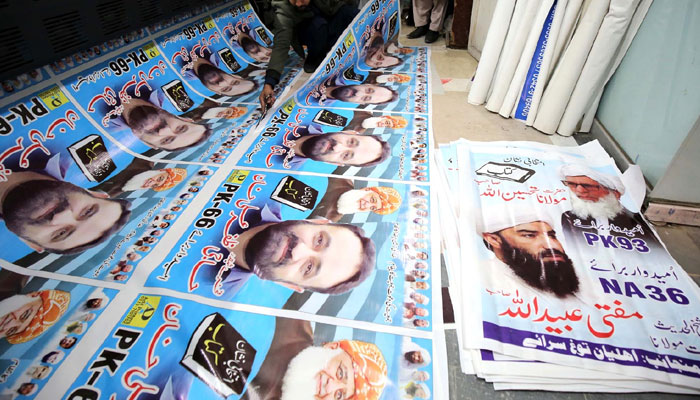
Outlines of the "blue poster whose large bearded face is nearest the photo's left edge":
[{"label": "blue poster whose large bearded face is nearest the photo's left edge", "polygon": [[3,115],[0,258],[20,267],[124,282],[215,171],[125,153],[57,86]]}]

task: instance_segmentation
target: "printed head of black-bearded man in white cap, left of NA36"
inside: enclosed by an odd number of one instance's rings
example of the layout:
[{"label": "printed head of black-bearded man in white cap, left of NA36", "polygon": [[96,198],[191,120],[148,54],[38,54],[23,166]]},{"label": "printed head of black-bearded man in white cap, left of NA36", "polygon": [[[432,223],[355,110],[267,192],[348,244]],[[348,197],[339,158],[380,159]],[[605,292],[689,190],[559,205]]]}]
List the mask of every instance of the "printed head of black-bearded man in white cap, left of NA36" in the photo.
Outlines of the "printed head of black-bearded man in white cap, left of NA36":
[{"label": "printed head of black-bearded man in white cap, left of NA36", "polygon": [[549,217],[526,209],[514,211],[484,215],[482,237],[486,247],[527,285],[559,298],[576,294],[576,270]]}]

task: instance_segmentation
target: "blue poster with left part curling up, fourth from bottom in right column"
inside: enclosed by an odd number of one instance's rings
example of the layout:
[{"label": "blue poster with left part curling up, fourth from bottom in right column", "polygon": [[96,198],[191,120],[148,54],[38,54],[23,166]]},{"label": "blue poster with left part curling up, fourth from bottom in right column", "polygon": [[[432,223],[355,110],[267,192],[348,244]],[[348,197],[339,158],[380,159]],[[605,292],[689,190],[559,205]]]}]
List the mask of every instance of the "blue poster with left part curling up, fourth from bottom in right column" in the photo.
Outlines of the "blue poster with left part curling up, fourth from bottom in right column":
[{"label": "blue poster with left part curling up, fourth from bottom in right column", "polygon": [[355,35],[348,32],[297,91],[296,101],[304,106],[429,112],[427,74],[362,71],[358,60]]}]

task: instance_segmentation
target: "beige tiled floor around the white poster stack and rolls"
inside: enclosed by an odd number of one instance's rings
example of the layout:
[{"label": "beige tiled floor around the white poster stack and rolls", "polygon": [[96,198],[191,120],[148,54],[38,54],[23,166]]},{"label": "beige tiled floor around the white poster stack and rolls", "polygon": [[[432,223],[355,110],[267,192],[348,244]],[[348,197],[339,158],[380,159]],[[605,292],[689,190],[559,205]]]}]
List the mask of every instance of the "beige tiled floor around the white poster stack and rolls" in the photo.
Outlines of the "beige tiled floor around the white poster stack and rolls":
[{"label": "beige tiled floor around the white poster stack and rolls", "polygon": [[[403,27],[401,43],[406,46],[425,46],[422,38],[406,39],[411,28]],[[458,138],[469,140],[528,140],[563,146],[576,145],[576,139],[547,136],[526,127],[513,119],[504,119],[484,107],[467,103],[469,80],[476,70],[477,62],[466,50],[448,49],[445,42],[431,45],[433,72],[432,81],[440,84],[433,89],[433,132],[437,143]],[[581,140],[583,139],[583,140]],[[585,135],[579,136],[585,142]],[[670,253],[685,270],[700,283],[700,228],[679,225],[656,227]],[[461,373],[455,355],[457,340],[454,331],[447,331],[451,399],[677,399],[689,396],[659,394],[590,394],[539,391],[496,392],[493,385]]]}]

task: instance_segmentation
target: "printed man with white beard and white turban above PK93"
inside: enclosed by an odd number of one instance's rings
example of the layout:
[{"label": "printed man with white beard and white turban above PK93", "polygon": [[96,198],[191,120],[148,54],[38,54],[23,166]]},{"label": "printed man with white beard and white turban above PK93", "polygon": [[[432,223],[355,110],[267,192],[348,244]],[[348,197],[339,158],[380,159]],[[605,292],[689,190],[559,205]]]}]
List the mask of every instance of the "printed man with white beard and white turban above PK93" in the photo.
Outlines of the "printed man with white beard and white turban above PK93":
[{"label": "printed man with white beard and white turban above PK93", "polygon": [[[620,203],[625,187],[618,177],[580,164],[563,165],[559,175],[571,193],[571,210],[561,217],[567,237],[590,242],[594,240],[591,234],[612,235],[628,239],[636,248],[659,246],[658,239],[641,215],[627,210]],[[633,239],[641,239],[644,243]],[[593,243],[600,245],[601,241]],[[622,244],[625,243],[622,240]],[[615,245],[620,244],[616,239]]]}]

